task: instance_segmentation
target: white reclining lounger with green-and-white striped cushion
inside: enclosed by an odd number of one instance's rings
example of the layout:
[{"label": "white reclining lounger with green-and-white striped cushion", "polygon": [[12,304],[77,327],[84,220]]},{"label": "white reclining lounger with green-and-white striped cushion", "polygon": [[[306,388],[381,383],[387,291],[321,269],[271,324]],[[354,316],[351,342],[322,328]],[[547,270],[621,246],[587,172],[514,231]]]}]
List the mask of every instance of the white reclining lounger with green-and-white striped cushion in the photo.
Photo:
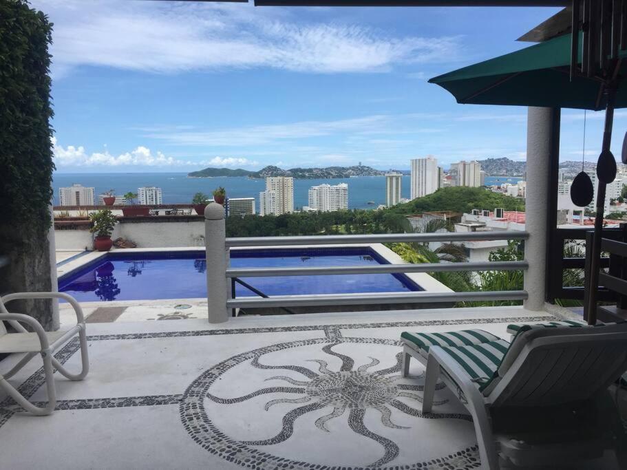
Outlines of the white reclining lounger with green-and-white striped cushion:
[{"label": "white reclining lounger with green-and-white striped cushion", "polygon": [[468,331],[402,337],[405,354],[426,362],[423,413],[442,380],[473,418],[482,468],[574,467],[604,449],[627,468],[625,430],[607,393],[627,370],[626,323],[510,325],[511,343],[487,332],[477,343]]}]

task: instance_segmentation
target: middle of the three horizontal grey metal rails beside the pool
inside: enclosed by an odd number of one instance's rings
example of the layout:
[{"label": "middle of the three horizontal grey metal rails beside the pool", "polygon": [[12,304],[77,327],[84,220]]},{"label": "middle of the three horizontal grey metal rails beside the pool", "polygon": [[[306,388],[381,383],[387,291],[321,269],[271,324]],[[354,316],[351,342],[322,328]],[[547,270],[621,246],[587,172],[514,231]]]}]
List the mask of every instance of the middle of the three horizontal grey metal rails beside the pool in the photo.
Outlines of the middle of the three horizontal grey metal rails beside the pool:
[{"label": "middle of the three horizontal grey metal rails beside the pool", "polygon": [[226,277],[326,276],[345,274],[439,273],[443,271],[497,271],[529,268],[527,261],[479,261],[474,263],[379,264],[315,268],[229,268]]}]

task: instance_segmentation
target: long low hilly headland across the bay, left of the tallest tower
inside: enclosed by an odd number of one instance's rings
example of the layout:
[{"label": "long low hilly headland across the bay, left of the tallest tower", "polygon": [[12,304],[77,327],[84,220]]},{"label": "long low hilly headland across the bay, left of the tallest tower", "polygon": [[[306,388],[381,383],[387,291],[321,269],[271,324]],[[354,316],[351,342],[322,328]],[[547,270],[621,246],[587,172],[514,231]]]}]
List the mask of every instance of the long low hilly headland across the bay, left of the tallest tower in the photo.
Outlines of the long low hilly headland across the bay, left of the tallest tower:
[{"label": "long low hilly headland across the bay, left of the tallest tower", "polygon": [[227,168],[205,168],[188,174],[191,178],[211,178],[214,176],[248,176],[249,178],[266,178],[268,176],[291,176],[297,179],[312,178],[350,178],[351,176],[385,175],[385,171],[375,170],[363,165],[355,167],[327,168],[292,168],[288,170],[270,165],[259,171],[230,170]]}]

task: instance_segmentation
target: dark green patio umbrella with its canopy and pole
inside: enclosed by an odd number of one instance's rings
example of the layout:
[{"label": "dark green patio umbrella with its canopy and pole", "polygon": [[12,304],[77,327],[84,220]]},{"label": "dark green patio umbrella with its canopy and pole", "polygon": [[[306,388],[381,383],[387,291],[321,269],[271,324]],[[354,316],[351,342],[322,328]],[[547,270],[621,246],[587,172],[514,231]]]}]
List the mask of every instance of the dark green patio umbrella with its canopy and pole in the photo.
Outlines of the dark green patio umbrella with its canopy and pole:
[{"label": "dark green patio umbrella with its canopy and pole", "polygon": [[[489,61],[464,67],[429,80],[443,87],[458,103],[476,105],[538,106],[575,109],[606,109],[602,152],[597,162],[599,191],[591,255],[589,286],[597,286],[606,184],[616,176],[616,162],[610,152],[615,107],[627,107],[627,50],[619,50],[603,69],[587,76],[575,68],[571,78],[571,43],[581,60],[585,41],[572,41],[571,34],[524,48]],[[574,54],[573,54],[574,56]],[[624,155],[624,158],[627,154]],[[582,172],[583,173],[583,172]],[[585,173],[573,182],[575,202],[592,200],[592,185]],[[587,178],[587,182],[584,180]],[[579,194],[578,192],[587,194]],[[578,204],[582,205],[582,204]],[[586,205],[586,204],[584,204]],[[590,290],[588,321],[596,321],[596,290]]]}]

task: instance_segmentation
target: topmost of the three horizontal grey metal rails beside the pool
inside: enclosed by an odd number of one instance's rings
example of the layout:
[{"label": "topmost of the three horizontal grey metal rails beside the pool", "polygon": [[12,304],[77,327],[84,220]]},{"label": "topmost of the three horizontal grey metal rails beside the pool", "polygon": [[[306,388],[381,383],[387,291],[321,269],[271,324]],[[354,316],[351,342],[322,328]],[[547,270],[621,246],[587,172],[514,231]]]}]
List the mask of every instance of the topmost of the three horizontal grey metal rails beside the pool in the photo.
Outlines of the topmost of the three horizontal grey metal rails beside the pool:
[{"label": "topmost of the three horizontal grey metal rails beside the pool", "polygon": [[313,235],[302,237],[232,237],[227,248],[237,246],[334,245],[394,242],[471,242],[520,240],[529,238],[524,231],[446,232],[446,233],[382,233],[378,235]]}]

